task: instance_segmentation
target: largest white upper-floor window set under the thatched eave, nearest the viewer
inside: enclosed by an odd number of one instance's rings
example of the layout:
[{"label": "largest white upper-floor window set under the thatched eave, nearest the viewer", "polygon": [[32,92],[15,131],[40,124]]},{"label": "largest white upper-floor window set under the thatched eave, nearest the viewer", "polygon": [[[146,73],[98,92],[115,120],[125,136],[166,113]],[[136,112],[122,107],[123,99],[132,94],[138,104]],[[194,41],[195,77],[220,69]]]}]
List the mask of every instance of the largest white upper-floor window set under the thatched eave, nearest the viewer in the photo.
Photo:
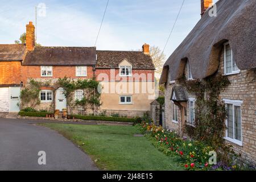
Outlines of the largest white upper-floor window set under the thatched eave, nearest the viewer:
[{"label": "largest white upper-floor window set under the thatched eave, nearest the viewer", "polygon": [[224,71],[225,75],[240,73],[240,69],[238,69],[236,62],[233,60],[229,43],[224,44]]}]

